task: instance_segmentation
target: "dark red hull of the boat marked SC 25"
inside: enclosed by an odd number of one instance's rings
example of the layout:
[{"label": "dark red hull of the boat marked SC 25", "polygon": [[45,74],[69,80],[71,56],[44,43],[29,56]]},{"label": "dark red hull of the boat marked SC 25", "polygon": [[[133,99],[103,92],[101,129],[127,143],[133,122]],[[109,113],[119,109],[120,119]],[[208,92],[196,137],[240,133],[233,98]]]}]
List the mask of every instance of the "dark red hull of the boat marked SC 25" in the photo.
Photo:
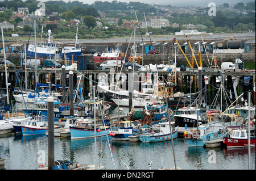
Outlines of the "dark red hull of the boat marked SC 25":
[{"label": "dark red hull of the boat marked SC 25", "polygon": [[[248,139],[224,137],[227,148],[248,147]],[[255,137],[250,140],[250,145],[255,146]]]}]

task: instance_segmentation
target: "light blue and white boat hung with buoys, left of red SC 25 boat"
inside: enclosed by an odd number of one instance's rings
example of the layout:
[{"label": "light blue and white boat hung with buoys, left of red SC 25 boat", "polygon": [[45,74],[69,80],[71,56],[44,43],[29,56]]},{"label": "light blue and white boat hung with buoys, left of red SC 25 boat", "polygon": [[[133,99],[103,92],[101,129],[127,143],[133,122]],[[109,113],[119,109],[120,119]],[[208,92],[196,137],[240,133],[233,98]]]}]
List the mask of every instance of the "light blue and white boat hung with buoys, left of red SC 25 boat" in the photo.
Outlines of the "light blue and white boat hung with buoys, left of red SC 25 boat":
[{"label": "light blue and white boat hung with buoys, left of red SC 25 boat", "polygon": [[205,147],[207,141],[220,140],[227,134],[226,127],[221,122],[201,124],[197,129],[185,132],[188,146]]}]

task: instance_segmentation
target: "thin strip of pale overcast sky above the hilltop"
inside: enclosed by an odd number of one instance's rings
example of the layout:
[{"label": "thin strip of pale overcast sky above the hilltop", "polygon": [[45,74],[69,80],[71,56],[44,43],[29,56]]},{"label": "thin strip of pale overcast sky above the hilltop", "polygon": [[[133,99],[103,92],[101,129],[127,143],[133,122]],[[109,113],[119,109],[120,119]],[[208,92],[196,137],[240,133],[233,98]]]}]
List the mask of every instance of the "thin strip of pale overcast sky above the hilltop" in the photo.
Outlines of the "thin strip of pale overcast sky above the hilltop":
[{"label": "thin strip of pale overcast sky above the hilltop", "polygon": [[[38,0],[40,1],[40,0]],[[43,0],[48,1],[48,0]],[[54,1],[54,0],[53,0]],[[64,2],[68,2],[69,0],[63,0]],[[73,1],[73,0],[71,0]],[[95,2],[94,0],[76,0],[76,1],[80,1],[83,2],[84,4],[89,4],[91,5],[93,2]],[[108,1],[108,2],[112,2],[113,0],[102,0],[102,2],[104,1]],[[117,2],[130,2],[130,0],[117,0]],[[132,0],[133,1],[133,0]],[[229,3],[229,5],[235,5],[238,2],[243,2],[243,3],[247,3],[250,1],[255,1],[255,0],[134,0],[134,2],[142,2],[142,3],[147,3],[147,4],[160,4],[160,5],[172,5],[172,6],[186,6],[186,5],[194,5],[194,6],[205,6],[208,5],[209,2],[214,2],[216,3],[216,5],[223,5],[223,3]]]}]

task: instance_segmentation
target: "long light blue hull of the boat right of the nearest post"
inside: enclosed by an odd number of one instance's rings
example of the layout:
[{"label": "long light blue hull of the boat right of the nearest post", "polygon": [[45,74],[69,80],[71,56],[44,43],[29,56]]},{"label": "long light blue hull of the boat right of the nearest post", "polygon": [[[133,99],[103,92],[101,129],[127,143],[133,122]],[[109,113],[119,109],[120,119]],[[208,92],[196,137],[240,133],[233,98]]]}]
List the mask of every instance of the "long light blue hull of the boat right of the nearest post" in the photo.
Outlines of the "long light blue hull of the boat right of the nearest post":
[{"label": "long light blue hull of the boat right of the nearest post", "polygon": [[[101,129],[101,128],[100,128]],[[98,128],[96,129],[96,136],[106,136],[109,134],[110,128],[102,128],[100,132],[98,132]],[[92,138],[95,136],[94,129],[84,129],[84,128],[70,128],[71,139],[81,139],[81,138]]]}]

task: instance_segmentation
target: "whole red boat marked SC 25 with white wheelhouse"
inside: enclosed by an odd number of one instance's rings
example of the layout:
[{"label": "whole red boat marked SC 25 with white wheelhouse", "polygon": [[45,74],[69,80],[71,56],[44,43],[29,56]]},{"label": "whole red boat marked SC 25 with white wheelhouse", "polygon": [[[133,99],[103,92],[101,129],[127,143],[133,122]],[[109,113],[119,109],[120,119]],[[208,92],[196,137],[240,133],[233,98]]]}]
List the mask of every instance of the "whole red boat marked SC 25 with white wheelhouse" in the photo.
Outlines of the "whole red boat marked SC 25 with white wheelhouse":
[{"label": "whole red boat marked SC 25 with white wheelhouse", "polygon": [[[236,129],[224,137],[227,148],[247,147],[248,143],[247,129]],[[250,130],[250,146],[255,146],[255,128]]]}]

